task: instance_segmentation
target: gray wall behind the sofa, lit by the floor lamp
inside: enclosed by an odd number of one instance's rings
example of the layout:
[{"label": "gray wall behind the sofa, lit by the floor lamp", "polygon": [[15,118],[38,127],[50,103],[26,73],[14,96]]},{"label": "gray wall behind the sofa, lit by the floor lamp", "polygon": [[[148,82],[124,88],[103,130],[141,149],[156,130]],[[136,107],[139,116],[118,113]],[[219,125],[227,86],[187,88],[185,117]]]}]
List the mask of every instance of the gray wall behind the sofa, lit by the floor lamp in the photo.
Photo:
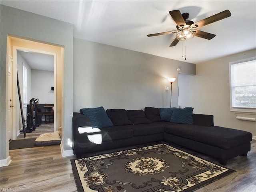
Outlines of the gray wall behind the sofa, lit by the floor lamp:
[{"label": "gray wall behind the sofa, lit by the floor lamp", "polygon": [[74,39],[74,111],[178,106],[178,72],[195,74],[195,64]]}]

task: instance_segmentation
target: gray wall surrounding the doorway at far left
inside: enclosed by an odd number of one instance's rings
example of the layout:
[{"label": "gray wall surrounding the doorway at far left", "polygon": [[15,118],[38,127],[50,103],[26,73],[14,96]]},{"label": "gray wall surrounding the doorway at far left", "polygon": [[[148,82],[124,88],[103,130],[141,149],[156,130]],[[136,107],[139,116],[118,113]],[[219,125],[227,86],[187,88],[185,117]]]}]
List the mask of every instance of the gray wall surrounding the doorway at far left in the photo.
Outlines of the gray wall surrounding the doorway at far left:
[{"label": "gray wall surrounding the doorway at far left", "polygon": [[68,138],[72,138],[73,112],[73,26],[72,24],[47,18],[30,12],[1,5],[1,68],[0,68],[0,159],[8,157],[6,150],[6,39],[7,35],[20,36],[40,42],[49,42],[65,48],[63,75],[62,129],[65,150],[71,150]]}]

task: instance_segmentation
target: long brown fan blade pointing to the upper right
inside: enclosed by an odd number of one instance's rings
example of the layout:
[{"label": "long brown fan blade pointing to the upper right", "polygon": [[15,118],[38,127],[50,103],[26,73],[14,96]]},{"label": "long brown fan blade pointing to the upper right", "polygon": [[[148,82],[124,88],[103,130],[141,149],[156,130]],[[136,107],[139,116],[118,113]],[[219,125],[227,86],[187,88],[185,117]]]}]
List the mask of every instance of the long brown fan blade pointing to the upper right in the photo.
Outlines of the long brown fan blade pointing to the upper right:
[{"label": "long brown fan blade pointing to the upper right", "polygon": [[200,20],[196,23],[193,24],[193,26],[198,26],[198,27],[202,27],[202,26],[205,26],[205,25],[208,25],[208,24],[211,24],[213,22],[216,22],[216,21],[219,21],[219,20],[222,20],[224,18],[227,18],[227,17],[230,17],[231,16],[231,13],[229,10],[225,10],[225,11],[222,11],[220,13],[217,13],[213,16],[210,16],[208,18],[205,18],[203,20]]}]

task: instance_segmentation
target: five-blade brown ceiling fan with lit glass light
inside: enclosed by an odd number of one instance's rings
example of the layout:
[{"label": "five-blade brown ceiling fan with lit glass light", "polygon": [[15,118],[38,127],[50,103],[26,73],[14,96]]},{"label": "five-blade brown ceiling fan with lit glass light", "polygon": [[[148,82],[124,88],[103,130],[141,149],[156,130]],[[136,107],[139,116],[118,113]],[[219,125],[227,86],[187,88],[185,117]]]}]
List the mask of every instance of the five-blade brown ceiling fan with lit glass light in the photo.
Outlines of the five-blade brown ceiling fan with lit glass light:
[{"label": "five-blade brown ceiling fan with lit glass light", "polygon": [[194,23],[193,21],[187,20],[188,16],[189,16],[188,13],[181,14],[179,10],[169,11],[169,13],[172,16],[173,20],[177,24],[177,26],[176,26],[177,30],[155,33],[155,34],[149,34],[147,36],[152,37],[152,36],[176,33],[177,36],[174,39],[174,41],[172,42],[172,44],[170,44],[170,47],[175,46],[176,44],[178,44],[178,42],[180,40],[187,40],[188,38],[193,38],[194,36],[201,37],[201,38],[208,39],[208,40],[214,38],[216,35],[208,33],[208,32],[197,30],[197,28],[200,28],[202,26],[211,24],[213,22],[216,22],[216,21],[219,21],[219,20],[222,20],[224,18],[227,18],[227,17],[231,16],[230,11],[225,10],[225,11],[222,11],[218,14],[215,14],[213,16],[210,16],[208,18],[205,18],[203,20],[200,20],[200,21]]}]

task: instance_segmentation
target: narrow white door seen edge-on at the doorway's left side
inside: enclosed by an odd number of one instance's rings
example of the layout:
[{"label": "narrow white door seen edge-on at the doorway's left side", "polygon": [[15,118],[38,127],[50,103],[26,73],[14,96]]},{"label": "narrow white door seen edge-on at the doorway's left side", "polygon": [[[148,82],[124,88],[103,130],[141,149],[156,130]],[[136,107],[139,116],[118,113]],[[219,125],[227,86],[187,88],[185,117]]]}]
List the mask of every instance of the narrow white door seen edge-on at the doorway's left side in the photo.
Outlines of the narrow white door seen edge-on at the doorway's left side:
[{"label": "narrow white door seen edge-on at the doorway's left side", "polygon": [[7,122],[7,137],[12,139],[12,56],[8,58],[8,122]]}]

